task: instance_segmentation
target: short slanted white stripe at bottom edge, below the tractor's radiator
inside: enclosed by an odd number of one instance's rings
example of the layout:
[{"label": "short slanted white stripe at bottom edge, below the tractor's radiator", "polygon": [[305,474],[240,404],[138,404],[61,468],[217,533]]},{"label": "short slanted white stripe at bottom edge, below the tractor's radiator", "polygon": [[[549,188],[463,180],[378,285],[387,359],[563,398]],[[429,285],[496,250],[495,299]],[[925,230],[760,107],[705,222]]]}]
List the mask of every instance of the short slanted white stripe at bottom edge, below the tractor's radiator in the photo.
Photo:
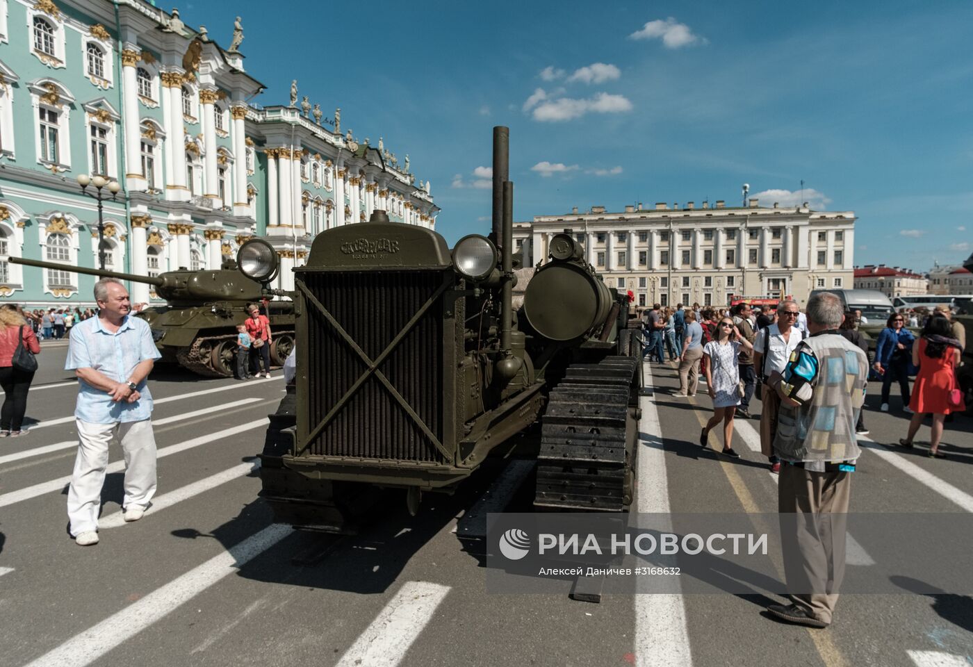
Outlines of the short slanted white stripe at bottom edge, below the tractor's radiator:
[{"label": "short slanted white stripe at bottom edge, below the tractor's radiator", "polygon": [[395,667],[436,613],[449,586],[407,581],[365,632],[338,661],[337,667]]}]

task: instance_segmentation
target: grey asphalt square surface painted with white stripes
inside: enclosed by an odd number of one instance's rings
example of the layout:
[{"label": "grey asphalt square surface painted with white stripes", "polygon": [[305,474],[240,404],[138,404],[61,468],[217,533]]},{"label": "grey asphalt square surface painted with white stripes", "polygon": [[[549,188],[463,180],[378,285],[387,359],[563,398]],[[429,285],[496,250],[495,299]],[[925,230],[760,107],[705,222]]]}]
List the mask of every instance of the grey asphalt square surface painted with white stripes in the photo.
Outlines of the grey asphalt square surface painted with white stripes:
[{"label": "grey asphalt square surface painted with white stripes", "polygon": [[[507,474],[499,465],[451,497],[425,496],[416,517],[393,494],[375,523],[355,537],[335,540],[273,524],[257,499],[254,454],[264,417],[282,396],[280,373],[250,382],[154,373],[160,450],[154,506],[136,523],[118,520],[119,464],[105,484],[101,543],[77,546],[66,531],[76,389],[61,370],[65,351],[63,344],[45,344],[28,400],[30,432],[0,440],[5,665],[958,667],[973,661],[973,599],[964,595],[847,595],[835,623],[818,631],[764,617],[764,606],[780,601],[764,591],[606,595],[600,604],[487,593],[482,559],[453,531],[487,486]],[[657,392],[642,400],[637,509],[774,511],[775,479],[750,448],[753,431],[748,446],[747,427],[739,427],[735,448],[742,460],[718,457],[715,438],[711,451],[701,450],[708,398],[673,397],[669,366],[648,372]],[[878,386],[870,391],[870,439],[893,442],[907,423],[898,399],[892,412],[881,413]],[[915,453],[881,444],[867,449],[854,474],[852,509],[973,510],[970,418],[951,423],[944,441],[947,461],[925,458],[921,446]],[[112,452],[113,463],[120,458],[121,451]],[[532,484],[528,475],[519,490],[514,485],[508,510],[529,510]],[[958,494],[944,495],[947,487]],[[860,546],[866,562],[883,558],[874,545]]]}]

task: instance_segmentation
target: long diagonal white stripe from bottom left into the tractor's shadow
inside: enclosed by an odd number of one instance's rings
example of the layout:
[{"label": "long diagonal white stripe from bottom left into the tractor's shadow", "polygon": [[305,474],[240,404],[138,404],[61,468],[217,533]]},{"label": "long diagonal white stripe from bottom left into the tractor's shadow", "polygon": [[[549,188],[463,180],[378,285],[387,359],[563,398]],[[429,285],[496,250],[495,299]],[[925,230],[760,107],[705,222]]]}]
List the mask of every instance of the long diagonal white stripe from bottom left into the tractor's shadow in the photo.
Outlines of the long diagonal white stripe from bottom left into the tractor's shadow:
[{"label": "long diagonal white stripe from bottom left into the tractor's shadow", "polygon": [[88,630],[75,635],[56,649],[37,658],[27,667],[89,665],[109,650],[115,649],[165,615],[172,613],[220,579],[233,574],[292,532],[290,526],[270,524],[256,535],[210,558],[185,575],[152,591],[138,602],[128,605]]}]

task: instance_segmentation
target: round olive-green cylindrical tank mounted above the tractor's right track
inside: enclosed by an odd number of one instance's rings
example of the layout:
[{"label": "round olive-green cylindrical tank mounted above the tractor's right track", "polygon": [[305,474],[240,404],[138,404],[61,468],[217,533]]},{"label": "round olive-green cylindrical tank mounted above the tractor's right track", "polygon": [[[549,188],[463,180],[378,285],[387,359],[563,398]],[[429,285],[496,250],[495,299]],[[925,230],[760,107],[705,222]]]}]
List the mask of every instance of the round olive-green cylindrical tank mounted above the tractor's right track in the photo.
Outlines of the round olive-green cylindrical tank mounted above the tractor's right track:
[{"label": "round olive-green cylindrical tank mounted above the tractor's right track", "polygon": [[551,340],[574,340],[604,322],[611,293],[577,263],[552,262],[537,269],[523,295],[523,313],[534,331]]}]

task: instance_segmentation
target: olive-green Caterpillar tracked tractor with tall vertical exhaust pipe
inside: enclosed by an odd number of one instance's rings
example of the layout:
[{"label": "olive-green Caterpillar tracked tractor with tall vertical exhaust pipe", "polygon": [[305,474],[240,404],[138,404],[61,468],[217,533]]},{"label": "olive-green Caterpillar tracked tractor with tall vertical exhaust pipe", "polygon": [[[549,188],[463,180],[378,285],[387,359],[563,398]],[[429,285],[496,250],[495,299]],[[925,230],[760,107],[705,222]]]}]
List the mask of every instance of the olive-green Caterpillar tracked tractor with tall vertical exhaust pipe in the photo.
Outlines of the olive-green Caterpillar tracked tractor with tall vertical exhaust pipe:
[{"label": "olive-green Caterpillar tracked tractor with tall vertical exhaust pipe", "polygon": [[[293,298],[297,341],[295,383],[261,456],[277,521],[350,531],[377,489],[415,511],[489,457],[536,462],[538,509],[630,507],[641,372],[628,297],[559,233],[514,309],[507,132],[494,128],[488,236],[450,249],[377,210],[319,233],[296,291],[269,291]],[[238,264],[275,272],[263,239],[244,243]]]}]

